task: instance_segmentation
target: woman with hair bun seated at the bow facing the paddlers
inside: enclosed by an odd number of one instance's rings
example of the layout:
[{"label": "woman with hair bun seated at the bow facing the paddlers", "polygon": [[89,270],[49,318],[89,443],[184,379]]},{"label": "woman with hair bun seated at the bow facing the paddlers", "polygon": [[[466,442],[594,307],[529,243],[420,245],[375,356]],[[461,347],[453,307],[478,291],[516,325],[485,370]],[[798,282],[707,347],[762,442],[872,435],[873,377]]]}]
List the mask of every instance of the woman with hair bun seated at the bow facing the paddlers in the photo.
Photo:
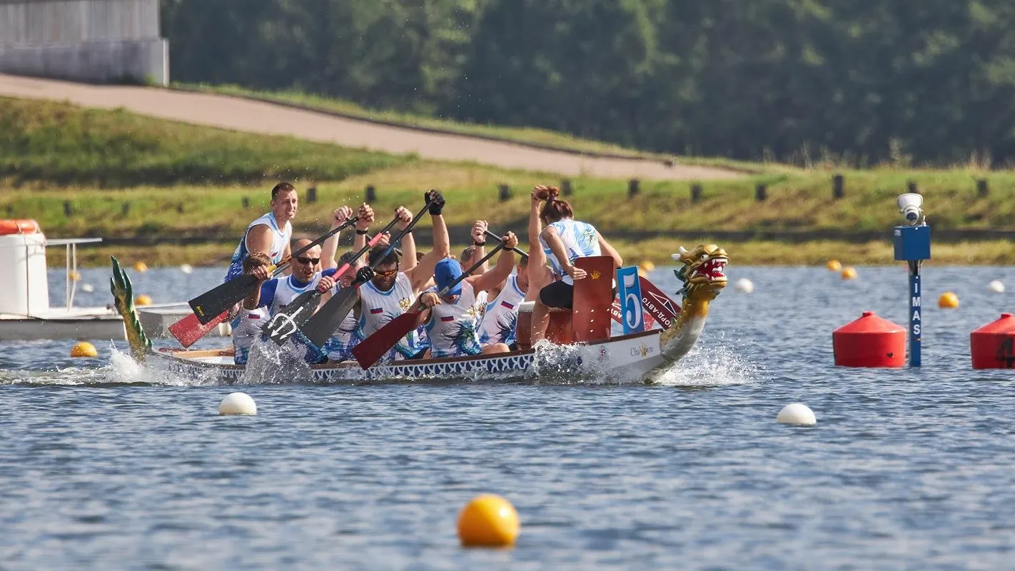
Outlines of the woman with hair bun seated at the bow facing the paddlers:
[{"label": "woman with hair bun seated at the bow facing the paddlers", "polygon": [[574,209],[565,200],[557,200],[556,187],[536,187],[536,198],[545,200],[539,219],[546,228],[539,233],[539,243],[553,272],[560,278],[539,290],[532,310],[532,343],[543,339],[549,325],[550,307],[570,309],[574,299],[574,280],[586,277],[584,270],[574,267],[574,261],[589,256],[613,258],[616,268],[623,266],[623,259],[607,242],[596,227],[588,222],[574,220]]}]

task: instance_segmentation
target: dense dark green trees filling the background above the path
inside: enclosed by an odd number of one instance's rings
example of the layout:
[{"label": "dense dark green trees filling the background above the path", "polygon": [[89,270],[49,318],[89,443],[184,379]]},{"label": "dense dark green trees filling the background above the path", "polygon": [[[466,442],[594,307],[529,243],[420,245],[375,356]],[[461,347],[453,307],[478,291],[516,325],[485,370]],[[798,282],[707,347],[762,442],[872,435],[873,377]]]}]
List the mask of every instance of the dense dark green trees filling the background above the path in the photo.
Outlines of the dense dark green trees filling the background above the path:
[{"label": "dense dark green trees filling the background above the path", "polygon": [[162,0],[181,81],[856,165],[1015,158],[1008,0]]}]

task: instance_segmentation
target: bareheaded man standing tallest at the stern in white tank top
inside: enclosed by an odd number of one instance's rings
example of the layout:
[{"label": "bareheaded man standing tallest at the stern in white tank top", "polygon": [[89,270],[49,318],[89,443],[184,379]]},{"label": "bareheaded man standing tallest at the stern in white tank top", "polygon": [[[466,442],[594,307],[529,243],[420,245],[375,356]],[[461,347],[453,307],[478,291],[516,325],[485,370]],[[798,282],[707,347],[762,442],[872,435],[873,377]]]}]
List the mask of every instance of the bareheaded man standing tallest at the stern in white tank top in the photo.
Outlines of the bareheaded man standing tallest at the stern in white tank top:
[{"label": "bareheaded man standing tallest at the stern in white tank top", "polygon": [[292,252],[289,240],[292,237],[292,220],[296,216],[298,198],[296,189],[288,183],[279,183],[271,190],[271,212],[262,215],[247,226],[240,240],[225,280],[243,273],[244,259],[252,252],[268,255],[272,264],[278,264]]}]

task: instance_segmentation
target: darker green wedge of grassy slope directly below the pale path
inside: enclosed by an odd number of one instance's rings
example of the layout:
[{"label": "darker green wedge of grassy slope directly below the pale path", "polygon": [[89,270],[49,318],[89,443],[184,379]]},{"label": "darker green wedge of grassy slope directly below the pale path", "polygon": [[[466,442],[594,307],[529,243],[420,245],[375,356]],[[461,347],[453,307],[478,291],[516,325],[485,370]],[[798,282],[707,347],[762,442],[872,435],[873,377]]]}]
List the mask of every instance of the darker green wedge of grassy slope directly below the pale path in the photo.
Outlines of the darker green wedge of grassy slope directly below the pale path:
[{"label": "darker green wedge of grassy slope directly below the pale path", "polygon": [[123,111],[0,97],[0,177],[14,184],[130,187],[279,177],[341,181],[410,160]]}]

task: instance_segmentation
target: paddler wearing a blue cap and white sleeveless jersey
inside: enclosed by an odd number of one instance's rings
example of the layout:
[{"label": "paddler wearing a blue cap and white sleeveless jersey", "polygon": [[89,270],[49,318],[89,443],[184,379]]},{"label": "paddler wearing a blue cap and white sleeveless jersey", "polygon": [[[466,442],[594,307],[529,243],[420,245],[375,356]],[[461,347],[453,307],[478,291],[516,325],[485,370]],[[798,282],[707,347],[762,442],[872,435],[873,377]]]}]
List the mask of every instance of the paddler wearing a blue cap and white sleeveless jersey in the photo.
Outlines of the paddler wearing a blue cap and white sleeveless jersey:
[{"label": "paddler wearing a blue cap and white sleeveless jersey", "polygon": [[419,302],[427,310],[420,313],[430,339],[431,358],[464,357],[480,353],[506,353],[510,349],[503,343],[482,345],[477,333],[479,315],[476,296],[503,283],[515,267],[515,254],[511,249],[518,245],[518,237],[507,232],[503,237],[505,247],[500,251],[496,265],[479,276],[470,276],[448,286],[462,276],[462,266],[450,258],[437,262],[433,268],[436,286],[423,292]]}]

